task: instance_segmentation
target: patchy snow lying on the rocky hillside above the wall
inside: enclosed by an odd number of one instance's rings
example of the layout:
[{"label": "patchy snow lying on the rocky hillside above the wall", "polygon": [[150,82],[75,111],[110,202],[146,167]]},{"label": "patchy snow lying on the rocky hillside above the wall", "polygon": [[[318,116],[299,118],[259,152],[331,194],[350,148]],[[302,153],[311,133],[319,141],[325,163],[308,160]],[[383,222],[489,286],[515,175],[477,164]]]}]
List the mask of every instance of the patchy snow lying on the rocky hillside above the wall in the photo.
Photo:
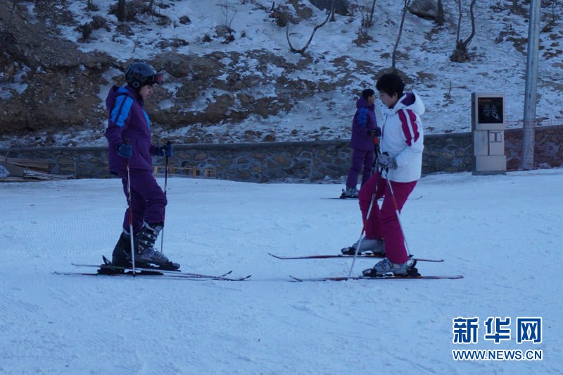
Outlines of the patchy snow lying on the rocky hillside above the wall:
[{"label": "patchy snow lying on the rocky hillside above the wall", "polygon": [[[163,51],[158,47],[159,43],[170,39],[182,39],[188,43],[177,48],[182,54],[201,56],[213,51],[236,51],[244,55],[246,51],[267,49],[291,63],[302,59],[300,55],[289,51],[284,28],[275,25],[269,18],[269,10],[272,6],[270,0],[156,1],[156,11],[170,18],[170,25],[158,26],[157,18],[142,14],[139,16],[139,22],[128,23],[134,33],[131,37],[125,37],[117,32],[120,23],[115,15],[108,15],[110,6],[115,5],[114,2],[93,1],[98,8],[97,11],[88,11],[86,1],[68,3],[56,7],[61,8],[61,11],[65,9],[72,12],[80,24],[89,23],[96,16],[102,17],[106,19],[109,30],[104,28],[95,30],[91,38],[84,42],[79,40],[81,34],[76,30],[76,25],[58,25],[61,37],[76,42],[77,48],[82,51],[104,51],[110,56],[115,56],[119,61],[130,59],[150,61]],[[322,23],[326,16],[324,11],[310,6],[309,1],[276,1],[276,5],[287,6],[295,13],[290,3],[301,4],[312,9],[310,19],[301,20],[297,25],[291,24],[289,27],[291,43],[294,47],[301,48],[310,37],[313,27]],[[366,1],[358,1],[358,3],[362,4]],[[34,5],[25,4],[33,14]],[[521,45],[525,51],[526,44],[512,40],[521,42],[526,38],[528,21],[526,9],[522,14],[518,8],[511,7],[510,4],[512,1],[508,0],[476,2],[474,11],[477,32],[469,44],[472,61],[461,64],[452,63],[449,59],[455,47],[459,17],[455,4],[445,3],[446,23],[443,27],[437,27],[429,20],[407,13],[398,46],[396,67],[414,82],[407,87],[407,90],[417,90],[426,104],[423,118],[426,134],[469,131],[472,92],[504,92],[507,99],[508,125],[521,127],[521,119],[524,115],[526,56],[518,48]],[[364,87],[373,87],[379,72],[391,66],[391,52],[398,35],[402,6],[402,1],[377,1],[374,26],[369,29],[372,41],[360,47],[354,43],[360,29],[360,12],[355,11],[353,16],[337,15],[335,22],[329,22],[317,30],[307,49],[315,63],[298,73],[291,73],[288,77],[312,82],[334,82],[347,77],[349,83],[339,87],[338,90],[296,100],[295,106],[289,113],[283,112],[268,118],[251,116],[241,123],[206,126],[207,142],[224,142],[224,139],[229,142],[243,142],[245,139],[243,135],[248,130],[267,134],[272,129],[278,141],[347,139],[350,136],[350,116],[355,111],[354,101],[358,93]],[[229,13],[225,13],[226,9]],[[544,6],[541,27],[545,27],[553,17],[556,20],[560,19],[562,11],[561,4],[554,3],[552,7]],[[471,34],[467,4],[464,4],[462,15],[460,38],[467,39]],[[191,23],[181,22],[181,18],[185,16],[189,16]],[[235,40],[229,44],[222,44],[221,37],[214,37],[216,27],[225,24],[231,25],[234,30]],[[210,42],[203,42],[205,35],[210,37]],[[538,120],[543,121],[543,125],[560,125],[563,121],[561,87],[558,83],[562,80],[563,54],[560,47],[562,35],[562,23],[555,22],[550,30],[543,31],[540,36],[536,115]],[[246,58],[242,57],[242,59]],[[222,62],[225,64],[231,62],[227,60],[229,59]],[[343,62],[335,62],[339,60]],[[261,75],[258,70],[253,70],[257,65],[258,63],[248,63],[249,71],[241,70],[239,73]],[[239,61],[236,66],[243,65]],[[362,69],[362,66],[367,68]],[[270,73],[286,74],[277,66],[269,68],[272,70]],[[108,85],[101,87],[99,92],[101,108],[105,108],[103,103],[106,93],[114,83],[111,80],[112,74],[119,75],[119,72],[115,70],[104,75],[108,78]],[[25,82],[19,83],[25,85]],[[165,82],[164,90],[160,90],[151,100],[158,102],[161,108],[171,106],[171,100],[175,97],[178,86],[173,80]],[[0,85],[1,87],[3,86]],[[252,94],[255,97],[272,97],[274,88],[272,85],[265,85],[265,87],[255,87],[253,90]],[[204,108],[204,104],[215,101],[214,93],[215,91],[208,90],[198,102],[194,103],[194,108],[183,110],[193,111],[198,107]],[[273,96],[275,95],[274,93]],[[103,132],[100,131],[105,126],[94,124],[94,128],[98,130],[97,133],[92,130],[82,133],[71,131],[67,134],[68,130],[64,130],[61,132],[63,134],[56,134],[53,137],[56,145],[105,145],[106,140],[103,138]],[[157,135],[181,143],[186,139],[192,139],[190,135],[199,135],[198,131],[201,130],[198,129],[198,126],[170,132],[159,129]],[[0,139],[0,147],[8,147],[13,142],[16,145],[22,143],[34,145],[37,140],[42,140],[44,137],[44,134],[34,134],[14,140],[13,136],[6,136]]]}]

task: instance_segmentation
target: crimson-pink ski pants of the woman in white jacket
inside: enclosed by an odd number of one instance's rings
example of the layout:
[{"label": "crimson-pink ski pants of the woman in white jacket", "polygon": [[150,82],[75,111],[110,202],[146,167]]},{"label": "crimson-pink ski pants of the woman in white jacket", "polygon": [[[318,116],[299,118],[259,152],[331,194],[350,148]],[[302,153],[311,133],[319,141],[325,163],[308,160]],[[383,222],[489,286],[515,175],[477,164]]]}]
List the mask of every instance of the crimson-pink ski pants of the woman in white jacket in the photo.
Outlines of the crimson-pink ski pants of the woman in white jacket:
[{"label": "crimson-pink ski pants of the woman in white jacket", "polygon": [[[372,195],[377,184],[377,192],[375,194],[372,211],[367,217],[369,204],[372,202]],[[417,185],[417,181],[410,183],[396,183],[391,181],[393,196],[397,202],[399,212],[403,209],[407,198]],[[377,199],[384,197],[381,208]],[[360,192],[358,193],[360,200],[360,211],[362,211],[362,221],[364,223],[365,237],[369,239],[384,239],[386,257],[393,263],[405,263],[408,260],[407,248],[405,247],[405,238],[403,231],[400,229],[400,223],[395,211],[395,203],[387,184],[387,180],[381,176],[379,172],[367,180]]]}]

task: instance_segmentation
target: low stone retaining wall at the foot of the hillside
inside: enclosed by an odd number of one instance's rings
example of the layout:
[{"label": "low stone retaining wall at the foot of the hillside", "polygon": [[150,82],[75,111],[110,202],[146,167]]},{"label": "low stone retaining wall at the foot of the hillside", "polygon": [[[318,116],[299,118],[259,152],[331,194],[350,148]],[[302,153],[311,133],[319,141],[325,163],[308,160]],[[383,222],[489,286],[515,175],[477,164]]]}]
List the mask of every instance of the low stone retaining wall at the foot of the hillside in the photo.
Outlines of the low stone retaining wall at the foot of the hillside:
[{"label": "low stone retaining wall at the foot of the hillside", "polygon": [[[505,154],[509,171],[521,159],[522,130],[505,131]],[[563,126],[536,128],[536,166],[563,166]],[[424,174],[472,171],[472,134],[427,135],[424,140]],[[320,181],[346,176],[351,152],[348,140],[313,142],[267,142],[252,144],[175,145],[170,166],[177,171],[195,167],[213,171],[217,178],[265,183],[285,179]],[[106,147],[46,147],[0,149],[14,158],[44,159],[53,163],[52,173],[75,174],[76,178],[108,178]],[[154,159],[163,165],[164,159]],[[184,169],[182,169],[184,168]]]}]

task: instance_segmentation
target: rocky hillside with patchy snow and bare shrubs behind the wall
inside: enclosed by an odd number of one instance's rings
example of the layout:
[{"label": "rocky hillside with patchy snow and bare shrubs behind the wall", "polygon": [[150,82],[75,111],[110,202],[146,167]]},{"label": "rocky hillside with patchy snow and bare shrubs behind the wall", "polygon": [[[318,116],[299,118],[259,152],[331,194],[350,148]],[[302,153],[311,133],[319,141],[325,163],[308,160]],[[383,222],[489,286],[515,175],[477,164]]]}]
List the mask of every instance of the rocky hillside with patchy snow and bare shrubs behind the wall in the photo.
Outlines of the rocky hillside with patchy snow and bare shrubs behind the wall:
[{"label": "rocky hillside with patchy snow and bare shrubs behind the wall", "polygon": [[[127,0],[119,21],[117,1],[1,1],[0,147],[103,142],[103,99],[137,59],[165,72],[165,85],[146,106],[160,137],[185,143],[348,137],[358,91],[391,67],[401,5],[377,1],[373,25],[362,27],[372,1],[336,1],[333,22],[316,30],[303,53],[291,51],[327,18],[327,2]],[[542,66],[560,72],[561,1],[548,2],[554,10],[543,11]],[[459,102],[475,87],[499,90],[501,83],[519,96],[524,90],[527,5],[486,3],[476,5],[477,35],[465,63],[450,61],[459,16],[451,4],[441,25],[433,1],[415,2],[405,17],[396,68],[429,98],[430,133],[468,130]],[[463,14],[461,39],[472,31],[469,5]],[[542,78],[540,97],[557,98],[559,79]],[[521,118],[519,103],[513,120]],[[563,118],[558,111],[545,119]]]}]

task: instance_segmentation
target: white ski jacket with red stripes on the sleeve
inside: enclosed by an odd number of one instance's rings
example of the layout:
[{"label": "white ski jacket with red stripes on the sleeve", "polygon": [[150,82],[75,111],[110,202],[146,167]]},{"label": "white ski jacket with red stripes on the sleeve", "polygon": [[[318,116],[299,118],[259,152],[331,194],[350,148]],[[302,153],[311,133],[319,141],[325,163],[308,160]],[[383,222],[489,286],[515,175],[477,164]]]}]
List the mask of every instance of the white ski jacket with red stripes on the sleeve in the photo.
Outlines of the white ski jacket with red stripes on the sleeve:
[{"label": "white ski jacket with red stripes on the sleeve", "polygon": [[397,169],[388,171],[391,181],[410,183],[421,176],[424,133],[420,115],[424,110],[415,92],[405,93],[393,108],[381,104],[381,152],[388,152],[397,161]]}]

